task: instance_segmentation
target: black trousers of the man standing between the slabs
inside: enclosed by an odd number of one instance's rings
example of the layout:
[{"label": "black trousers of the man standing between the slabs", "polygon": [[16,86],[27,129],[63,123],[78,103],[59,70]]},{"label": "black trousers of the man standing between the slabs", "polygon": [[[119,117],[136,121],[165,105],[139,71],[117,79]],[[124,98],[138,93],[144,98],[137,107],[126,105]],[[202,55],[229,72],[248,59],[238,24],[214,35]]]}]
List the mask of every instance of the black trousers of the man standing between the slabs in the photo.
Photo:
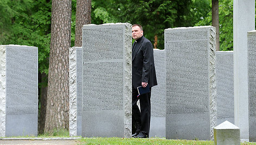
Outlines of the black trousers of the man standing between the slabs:
[{"label": "black trousers of the man standing between the slabs", "polygon": [[[132,134],[142,131],[145,135],[149,136],[150,129],[150,93],[138,96],[137,88],[132,87]],[[137,106],[139,100],[140,110]]]}]

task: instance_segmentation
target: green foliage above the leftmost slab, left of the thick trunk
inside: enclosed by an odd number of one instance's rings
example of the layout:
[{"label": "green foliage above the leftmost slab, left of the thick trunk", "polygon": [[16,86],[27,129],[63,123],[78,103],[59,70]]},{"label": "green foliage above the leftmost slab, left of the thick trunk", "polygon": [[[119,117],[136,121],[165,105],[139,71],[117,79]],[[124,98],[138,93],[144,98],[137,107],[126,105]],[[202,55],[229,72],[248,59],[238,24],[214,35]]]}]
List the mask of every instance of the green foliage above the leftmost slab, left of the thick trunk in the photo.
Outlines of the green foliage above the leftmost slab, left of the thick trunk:
[{"label": "green foliage above the leftmost slab, left of the thick trunk", "polygon": [[51,2],[1,0],[0,44],[38,47],[39,71],[48,74]]}]

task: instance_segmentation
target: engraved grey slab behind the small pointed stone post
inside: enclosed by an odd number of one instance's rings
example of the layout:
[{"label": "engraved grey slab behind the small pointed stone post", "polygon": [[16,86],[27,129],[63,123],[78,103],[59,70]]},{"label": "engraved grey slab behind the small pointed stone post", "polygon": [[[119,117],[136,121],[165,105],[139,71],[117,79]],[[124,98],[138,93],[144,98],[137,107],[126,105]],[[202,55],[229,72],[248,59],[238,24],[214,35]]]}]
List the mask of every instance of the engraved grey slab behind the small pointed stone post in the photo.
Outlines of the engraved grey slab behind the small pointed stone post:
[{"label": "engraved grey slab behind the small pointed stone post", "polygon": [[233,51],[216,51],[217,125],[234,123]]}]

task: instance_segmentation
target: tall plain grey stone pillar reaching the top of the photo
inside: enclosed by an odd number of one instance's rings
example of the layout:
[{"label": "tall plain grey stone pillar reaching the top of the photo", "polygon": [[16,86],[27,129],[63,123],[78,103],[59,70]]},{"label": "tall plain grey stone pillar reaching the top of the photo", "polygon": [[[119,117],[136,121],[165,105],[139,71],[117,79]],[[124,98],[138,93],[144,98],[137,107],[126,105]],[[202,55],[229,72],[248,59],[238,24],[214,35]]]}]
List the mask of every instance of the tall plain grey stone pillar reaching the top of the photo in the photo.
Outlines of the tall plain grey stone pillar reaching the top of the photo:
[{"label": "tall plain grey stone pillar reaching the top of the photo", "polygon": [[242,141],[249,139],[247,32],[255,29],[255,0],[233,1],[234,121]]}]

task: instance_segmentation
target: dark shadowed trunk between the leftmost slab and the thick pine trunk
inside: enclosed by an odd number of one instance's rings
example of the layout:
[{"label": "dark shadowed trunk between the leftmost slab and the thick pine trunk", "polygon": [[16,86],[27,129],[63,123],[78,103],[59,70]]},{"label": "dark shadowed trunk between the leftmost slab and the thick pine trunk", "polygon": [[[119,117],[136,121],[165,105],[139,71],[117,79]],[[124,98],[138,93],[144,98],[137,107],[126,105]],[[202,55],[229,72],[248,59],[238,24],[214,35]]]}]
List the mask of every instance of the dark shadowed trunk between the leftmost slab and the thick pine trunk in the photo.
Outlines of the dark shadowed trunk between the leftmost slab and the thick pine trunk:
[{"label": "dark shadowed trunk between the leftmost slab and the thick pine trunk", "polygon": [[40,88],[40,111],[38,118],[38,132],[39,134],[44,133],[44,127],[46,123],[46,104],[47,104],[47,75],[40,73],[39,82],[42,84]]}]

